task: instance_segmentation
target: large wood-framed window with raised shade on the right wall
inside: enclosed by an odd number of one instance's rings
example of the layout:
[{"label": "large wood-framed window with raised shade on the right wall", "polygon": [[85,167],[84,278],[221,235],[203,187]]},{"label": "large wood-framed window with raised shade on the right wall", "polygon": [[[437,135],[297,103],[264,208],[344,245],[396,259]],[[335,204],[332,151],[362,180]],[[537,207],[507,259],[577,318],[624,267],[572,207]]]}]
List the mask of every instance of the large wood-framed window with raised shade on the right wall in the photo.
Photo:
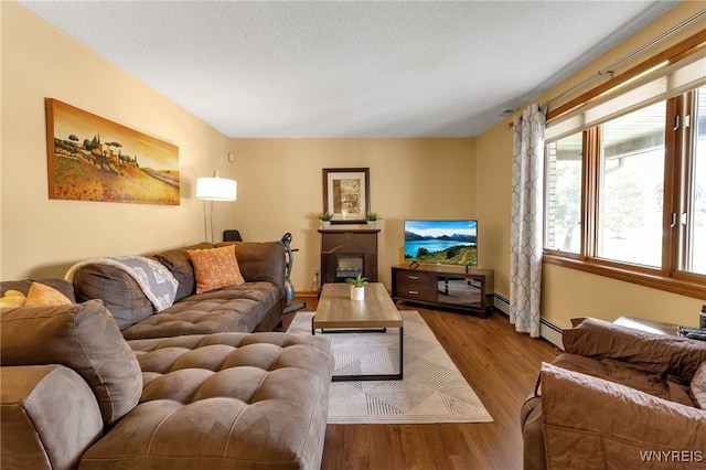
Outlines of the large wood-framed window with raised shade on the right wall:
[{"label": "large wood-framed window with raised shade on the right wall", "polygon": [[545,260],[702,298],[706,58],[620,93],[547,126]]}]

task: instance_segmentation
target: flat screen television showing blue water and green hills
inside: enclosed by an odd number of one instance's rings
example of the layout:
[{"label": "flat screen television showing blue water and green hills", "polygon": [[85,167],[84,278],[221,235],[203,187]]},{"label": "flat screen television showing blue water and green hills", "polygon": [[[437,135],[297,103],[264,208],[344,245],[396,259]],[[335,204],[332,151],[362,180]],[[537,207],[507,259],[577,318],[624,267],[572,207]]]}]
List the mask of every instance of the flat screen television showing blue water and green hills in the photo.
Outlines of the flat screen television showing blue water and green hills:
[{"label": "flat screen television showing blue water and green hills", "polygon": [[405,260],[478,266],[478,221],[405,221]]}]

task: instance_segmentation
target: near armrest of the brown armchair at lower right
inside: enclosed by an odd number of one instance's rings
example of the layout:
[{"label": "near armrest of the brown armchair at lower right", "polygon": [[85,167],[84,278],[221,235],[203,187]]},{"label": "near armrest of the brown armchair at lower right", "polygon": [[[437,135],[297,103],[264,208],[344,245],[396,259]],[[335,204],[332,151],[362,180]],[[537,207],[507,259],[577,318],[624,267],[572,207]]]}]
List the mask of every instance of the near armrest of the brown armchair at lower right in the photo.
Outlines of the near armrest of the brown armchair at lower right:
[{"label": "near armrest of the brown armchair at lower right", "polygon": [[546,363],[542,414],[548,469],[706,461],[706,412]]}]

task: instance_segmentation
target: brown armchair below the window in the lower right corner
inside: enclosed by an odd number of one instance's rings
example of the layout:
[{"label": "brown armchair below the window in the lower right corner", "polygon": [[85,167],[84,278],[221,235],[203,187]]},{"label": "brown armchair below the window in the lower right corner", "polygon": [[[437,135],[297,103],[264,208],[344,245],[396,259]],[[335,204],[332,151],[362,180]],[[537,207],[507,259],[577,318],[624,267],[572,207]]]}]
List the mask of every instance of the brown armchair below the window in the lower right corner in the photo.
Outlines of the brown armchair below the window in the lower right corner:
[{"label": "brown armchair below the window in the lower right corner", "polygon": [[525,470],[704,468],[706,342],[590,318],[563,340],[521,412]]}]

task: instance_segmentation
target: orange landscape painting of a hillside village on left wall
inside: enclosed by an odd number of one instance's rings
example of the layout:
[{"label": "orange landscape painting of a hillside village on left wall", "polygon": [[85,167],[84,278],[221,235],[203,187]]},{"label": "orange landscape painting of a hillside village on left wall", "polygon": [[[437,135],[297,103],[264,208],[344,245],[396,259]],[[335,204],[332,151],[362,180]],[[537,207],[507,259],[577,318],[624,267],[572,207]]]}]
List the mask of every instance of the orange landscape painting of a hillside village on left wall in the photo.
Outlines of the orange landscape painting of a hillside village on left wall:
[{"label": "orange landscape painting of a hillside village on left wall", "polygon": [[49,197],[179,205],[179,148],[46,98]]}]

